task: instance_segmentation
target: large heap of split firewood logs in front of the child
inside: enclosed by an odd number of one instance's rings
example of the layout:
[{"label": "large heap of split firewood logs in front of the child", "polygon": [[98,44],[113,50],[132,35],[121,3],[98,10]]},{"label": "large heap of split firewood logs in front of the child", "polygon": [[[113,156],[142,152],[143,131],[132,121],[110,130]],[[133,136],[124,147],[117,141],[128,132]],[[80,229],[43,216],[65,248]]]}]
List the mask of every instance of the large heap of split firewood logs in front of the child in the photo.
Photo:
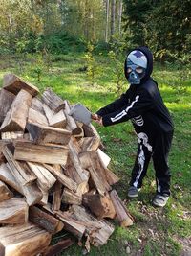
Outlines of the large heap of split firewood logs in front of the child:
[{"label": "large heap of split firewood logs in front of the child", "polygon": [[[69,231],[80,242],[106,244],[107,219],[133,224],[112,185],[117,175],[93,125],[74,121],[71,105],[51,89],[42,95],[15,75],[0,90],[0,255],[56,255],[74,243],[50,245]],[[82,240],[84,241],[84,240]],[[80,242],[81,243],[81,242]]]}]

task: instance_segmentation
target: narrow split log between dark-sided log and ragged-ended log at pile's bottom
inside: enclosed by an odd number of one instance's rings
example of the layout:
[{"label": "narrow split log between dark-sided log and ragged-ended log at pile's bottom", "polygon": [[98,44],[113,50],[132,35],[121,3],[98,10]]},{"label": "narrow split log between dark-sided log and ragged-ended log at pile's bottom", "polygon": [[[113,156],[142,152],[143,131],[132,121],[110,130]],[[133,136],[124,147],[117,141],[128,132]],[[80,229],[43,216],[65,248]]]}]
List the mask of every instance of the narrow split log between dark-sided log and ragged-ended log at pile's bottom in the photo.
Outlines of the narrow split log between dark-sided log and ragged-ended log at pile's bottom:
[{"label": "narrow split log between dark-sided log and ragged-ended log at pile's bottom", "polygon": [[72,233],[78,240],[81,240],[86,230],[84,223],[74,220],[67,212],[58,211],[56,212],[56,217],[63,221],[65,230]]}]

